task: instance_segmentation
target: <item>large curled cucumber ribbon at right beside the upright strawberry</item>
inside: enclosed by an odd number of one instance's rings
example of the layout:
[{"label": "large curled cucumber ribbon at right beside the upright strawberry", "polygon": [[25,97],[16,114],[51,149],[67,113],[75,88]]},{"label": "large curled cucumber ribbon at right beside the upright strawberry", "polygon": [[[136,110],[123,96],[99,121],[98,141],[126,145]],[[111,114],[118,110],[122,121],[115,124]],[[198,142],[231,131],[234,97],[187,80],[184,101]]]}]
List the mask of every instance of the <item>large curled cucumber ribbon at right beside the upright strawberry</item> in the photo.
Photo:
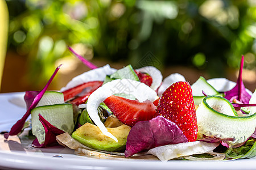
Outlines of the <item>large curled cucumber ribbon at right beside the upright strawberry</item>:
[{"label": "large curled cucumber ribbon at right beside the upright strawberry", "polygon": [[238,117],[233,105],[220,96],[205,97],[196,111],[199,133],[234,138],[229,145],[243,143],[254,133],[256,113]]}]

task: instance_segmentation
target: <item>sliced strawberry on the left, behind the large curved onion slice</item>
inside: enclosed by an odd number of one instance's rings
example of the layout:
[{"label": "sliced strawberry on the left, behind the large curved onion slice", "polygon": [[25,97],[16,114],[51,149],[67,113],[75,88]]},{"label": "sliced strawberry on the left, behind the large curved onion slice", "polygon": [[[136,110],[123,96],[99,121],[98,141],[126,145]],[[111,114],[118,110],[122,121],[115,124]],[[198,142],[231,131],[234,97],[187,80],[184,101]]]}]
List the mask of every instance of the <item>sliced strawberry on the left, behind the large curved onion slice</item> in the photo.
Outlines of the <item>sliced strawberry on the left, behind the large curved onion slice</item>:
[{"label": "sliced strawberry on the left, behind the large curved onion slice", "polygon": [[63,92],[64,100],[70,101],[73,104],[79,105],[85,103],[89,95],[92,94],[97,88],[101,87],[103,82],[94,81],[80,84],[79,86],[70,88]]}]

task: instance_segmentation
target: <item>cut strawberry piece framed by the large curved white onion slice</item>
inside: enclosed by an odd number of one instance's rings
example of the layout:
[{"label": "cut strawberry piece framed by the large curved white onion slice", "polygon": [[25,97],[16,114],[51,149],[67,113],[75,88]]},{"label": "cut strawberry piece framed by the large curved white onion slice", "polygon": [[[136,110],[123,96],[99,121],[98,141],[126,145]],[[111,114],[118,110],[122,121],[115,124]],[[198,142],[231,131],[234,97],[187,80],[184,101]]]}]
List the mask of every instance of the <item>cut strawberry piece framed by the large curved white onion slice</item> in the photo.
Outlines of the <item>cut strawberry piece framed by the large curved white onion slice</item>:
[{"label": "cut strawberry piece framed by the large curved white onion slice", "polygon": [[119,121],[128,126],[133,126],[138,121],[151,120],[155,115],[155,105],[149,100],[140,103],[138,100],[110,96],[104,103]]}]

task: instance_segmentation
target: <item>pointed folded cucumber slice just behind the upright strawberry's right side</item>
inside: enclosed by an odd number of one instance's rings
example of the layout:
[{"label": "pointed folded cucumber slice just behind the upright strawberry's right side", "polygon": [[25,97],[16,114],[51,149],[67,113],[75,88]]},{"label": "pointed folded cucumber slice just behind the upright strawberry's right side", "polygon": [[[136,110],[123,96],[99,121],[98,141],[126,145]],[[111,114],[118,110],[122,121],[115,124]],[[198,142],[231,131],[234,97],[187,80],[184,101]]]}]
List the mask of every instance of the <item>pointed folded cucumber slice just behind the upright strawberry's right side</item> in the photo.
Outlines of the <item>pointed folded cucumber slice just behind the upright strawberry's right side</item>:
[{"label": "pointed folded cucumber slice just behind the upright strawberry's right side", "polygon": [[196,82],[192,84],[191,88],[192,88],[194,103],[196,105],[199,105],[205,97],[202,93],[202,90],[209,96],[220,94],[214,87],[212,87],[207,82],[207,80],[205,80],[203,76],[200,76],[200,78],[197,79]]}]

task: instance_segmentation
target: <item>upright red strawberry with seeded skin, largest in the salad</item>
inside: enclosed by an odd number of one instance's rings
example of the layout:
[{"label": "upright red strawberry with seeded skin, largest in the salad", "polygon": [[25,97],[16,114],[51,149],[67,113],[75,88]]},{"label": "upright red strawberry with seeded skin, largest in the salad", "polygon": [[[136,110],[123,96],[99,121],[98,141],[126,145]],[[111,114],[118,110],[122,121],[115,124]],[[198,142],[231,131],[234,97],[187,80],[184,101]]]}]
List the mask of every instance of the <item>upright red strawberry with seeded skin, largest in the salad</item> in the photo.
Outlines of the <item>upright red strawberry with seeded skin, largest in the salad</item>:
[{"label": "upright red strawberry with seeded skin, largest in the salad", "polygon": [[156,108],[155,116],[159,115],[175,122],[189,142],[196,141],[196,109],[188,82],[176,82],[163,92]]}]

